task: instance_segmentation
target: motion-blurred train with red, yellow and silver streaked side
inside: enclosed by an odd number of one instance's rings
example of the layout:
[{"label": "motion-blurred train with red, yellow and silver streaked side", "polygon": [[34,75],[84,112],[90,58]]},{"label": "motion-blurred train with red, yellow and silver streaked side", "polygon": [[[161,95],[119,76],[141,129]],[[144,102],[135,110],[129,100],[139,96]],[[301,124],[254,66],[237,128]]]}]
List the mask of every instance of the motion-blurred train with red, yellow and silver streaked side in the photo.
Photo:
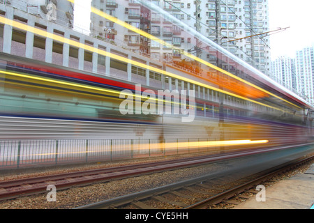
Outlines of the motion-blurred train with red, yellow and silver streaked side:
[{"label": "motion-blurred train with red, yellow and silver streaked side", "polygon": [[[182,122],[184,114],[122,115],[119,106],[125,98],[119,93],[127,89],[135,95],[135,83],[105,75],[1,53],[0,78],[1,140],[242,140],[241,148],[256,148],[304,143],[313,135],[311,107],[276,89],[268,91],[285,100],[266,95],[255,103],[201,88],[190,107],[194,120]],[[145,102],[141,100],[140,105]]]}]

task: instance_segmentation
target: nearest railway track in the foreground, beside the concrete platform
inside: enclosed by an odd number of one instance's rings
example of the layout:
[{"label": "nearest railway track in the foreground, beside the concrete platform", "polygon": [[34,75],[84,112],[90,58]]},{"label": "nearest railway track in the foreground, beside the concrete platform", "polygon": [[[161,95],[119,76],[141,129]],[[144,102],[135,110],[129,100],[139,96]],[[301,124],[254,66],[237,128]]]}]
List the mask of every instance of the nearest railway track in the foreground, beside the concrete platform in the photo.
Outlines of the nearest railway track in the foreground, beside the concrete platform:
[{"label": "nearest railway track in the foreground, beside the concrete platform", "polygon": [[[137,192],[134,194],[128,194],[125,196],[100,201],[97,203],[91,203],[86,206],[78,207],[77,209],[106,209],[106,208],[140,208],[140,209],[152,209],[152,208],[184,208],[184,209],[203,209],[209,208],[211,205],[216,205],[221,202],[233,201],[228,199],[236,196],[241,192],[254,192],[256,185],[264,183],[273,176],[283,173],[289,169],[295,168],[298,165],[310,162],[314,159],[314,156],[308,157],[303,160],[297,160],[281,165],[280,167],[274,167],[267,171],[260,173],[258,177],[254,177],[253,180],[246,180],[246,182],[238,182],[237,186],[221,189],[220,186],[213,185],[212,181],[217,183],[218,176],[215,174],[209,174],[199,178],[190,180],[184,180],[179,183],[173,183],[171,185],[165,185],[163,187],[146,190],[143,192]],[[223,173],[227,174],[226,173]],[[226,182],[224,181],[223,184]],[[220,189],[217,189],[220,188]],[[254,188],[254,190],[253,190]],[[192,192],[190,195],[186,192]],[[207,197],[202,199],[202,197]],[[246,198],[246,197],[244,197]],[[196,201],[195,201],[196,200]],[[159,204],[157,204],[159,203]],[[163,203],[163,204],[160,204]],[[165,205],[167,203],[167,205]]]}]

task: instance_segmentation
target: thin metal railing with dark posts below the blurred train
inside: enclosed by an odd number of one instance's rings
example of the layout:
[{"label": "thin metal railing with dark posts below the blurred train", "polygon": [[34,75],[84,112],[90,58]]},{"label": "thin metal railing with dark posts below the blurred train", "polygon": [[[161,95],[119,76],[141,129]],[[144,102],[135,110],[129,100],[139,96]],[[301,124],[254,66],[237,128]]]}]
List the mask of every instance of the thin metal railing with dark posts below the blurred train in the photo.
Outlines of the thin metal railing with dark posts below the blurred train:
[{"label": "thin metal railing with dark posts below the blurred train", "polygon": [[[156,157],[208,151],[213,139],[33,139],[0,141],[0,169]],[[172,146],[165,146],[171,144]],[[184,148],[178,145],[186,144]],[[177,145],[177,146],[176,146]],[[211,148],[213,150],[213,148]],[[213,150],[215,151],[215,150]]]}]

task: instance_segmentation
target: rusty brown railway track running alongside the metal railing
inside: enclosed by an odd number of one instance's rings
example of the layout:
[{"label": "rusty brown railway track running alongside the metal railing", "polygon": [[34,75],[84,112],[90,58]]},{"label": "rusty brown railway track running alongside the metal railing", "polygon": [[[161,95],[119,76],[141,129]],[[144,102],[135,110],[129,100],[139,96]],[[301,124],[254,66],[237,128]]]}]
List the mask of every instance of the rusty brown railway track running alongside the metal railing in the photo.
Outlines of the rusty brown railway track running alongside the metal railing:
[{"label": "rusty brown railway track running alongside the metal railing", "polygon": [[47,192],[48,185],[54,185],[58,190],[63,190],[73,186],[90,185],[92,183],[104,182],[112,179],[138,176],[140,174],[149,174],[170,169],[192,167],[217,160],[263,153],[266,151],[268,150],[260,149],[255,151],[238,151],[216,155],[202,155],[198,157],[186,157],[177,160],[149,162],[121,167],[77,171],[67,174],[55,174],[50,176],[38,176],[33,178],[2,181],[0,182],[0,200],[13,199],[20,196]]}]

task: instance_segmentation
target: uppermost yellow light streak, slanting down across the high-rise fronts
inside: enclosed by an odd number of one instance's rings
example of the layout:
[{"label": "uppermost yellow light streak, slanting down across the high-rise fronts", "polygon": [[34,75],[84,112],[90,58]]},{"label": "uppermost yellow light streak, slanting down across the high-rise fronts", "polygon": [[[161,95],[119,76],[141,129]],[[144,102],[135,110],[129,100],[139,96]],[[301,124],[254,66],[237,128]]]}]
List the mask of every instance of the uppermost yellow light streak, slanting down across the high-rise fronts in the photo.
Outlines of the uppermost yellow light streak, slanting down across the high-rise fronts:
[{"label": "uppermost yellow light streak, slanting down across the high-rise fronts", "polygon": [[[74,0],[68,0],[68,1],[74,3]],[[301,109],[301,107],[299,107],[299,106],[297,106],[297,105],[294,105],[292,102],[290,102],[290,101],[288,101],[288,100],[285,100],[285,99],[279,97],[278,95],[275,95],[274,93],[271,93],[271,92],[269,92],[269,91],[266,91],[265,89],[262,89],[262,88],[260,88],[259,86],[256,86],[255,84],[252,84],[251,82],[246,81],[245,79],[241,79],[240,77],[237,77],[236,75],[233,75],[232,73],[227,72],[226,70],[223,70],[223,69],[221,69],[221,68],[218,68],[217,66],[214,66],[214,64],[211,64],[211,63],[209,63],[209,62],[207,62],[207,61],[204,61],[203,59],[200,59],[200,58],[198,58],[197,56],[194,56],[193,54],[190,54],[190,53],[188,53],[188,52],[182,50],[182,49],[179,48],[179,47],[175,47],[175,46],[171,45],[170,43],[166,43],[165,41],[161,40],[160,38],[157,38],[156,36],[152,36],[151,34],[145,32],[145,31],[142,31],[142,30],[140,30],[140,29],[137,29],[135,26],[131,26],[130,24],[128,24],[128,23],[126,23],[126,22],[124,22],[124,21],[119,20],[117,17],[113,17],[113,16],[111,16],[111,15],[108,15],[107,13],[104,13],[103,11],[98,10],[97,8],[94,8],[93,6],[91,6],[91,12],[94,13],[94,14],[96,14],[96,15],[99,15],[100,17],[103,17],[103,18],[105,18],[105,19],[107,19],[107,20],[110,20],[110,21],[112,21],[112,22],[114,22],[114,23],[117,23],[117,24],[119,24],[120,26],[124,26],[125,28],[130,29],[131,31],[134,31],[135,33],[139,33],[140,35],[145,36],[145,37],[147,37],[147,38],[149,38],[149,39],[151,39],[151,40],[154,40],[154,41],[156,41],[156,42],[158,42],[158,43],[160,43],[160,44],[162,44],[162,45],[165,45],[165,46],[170,47],[170,48],[172,48],[172,49],[178,49],[178,50],[180,50],[180,52],[182,52],[185,56],[190,57],[190,59],[193,59],[193,60],[195,60],[195,61],[198,61],[198,62],[200,62],[200,63],[203,63],[204,65],[209,66],[210,68],[213,68],[213,69],[215,69],[215,70],[218,70],[219,72],[222,72],[222,73],[225,74],[225,75],[228,75],[228,76],[230,76],[230,77],[233,77],[234,79],[237,79],[237,80],[239,80],[240,82],[243,82],[243,83],[245,83],[245,84],[248,84],[249,86],[253,86],[255,89],[258,89],[258,90],[260,90],[260,91],[263,91],[264,93],[267,93],[267,94],[269,94],[269,95],[272,95],[272,96],[274,96],[275,98],[278,98],[278,99],[280,99],[280,100],[283,100],[284,102],[287,102],[287,103],[289,103],[290,105],[293,105],[293,106],[298,107],[299,109]]]}]

